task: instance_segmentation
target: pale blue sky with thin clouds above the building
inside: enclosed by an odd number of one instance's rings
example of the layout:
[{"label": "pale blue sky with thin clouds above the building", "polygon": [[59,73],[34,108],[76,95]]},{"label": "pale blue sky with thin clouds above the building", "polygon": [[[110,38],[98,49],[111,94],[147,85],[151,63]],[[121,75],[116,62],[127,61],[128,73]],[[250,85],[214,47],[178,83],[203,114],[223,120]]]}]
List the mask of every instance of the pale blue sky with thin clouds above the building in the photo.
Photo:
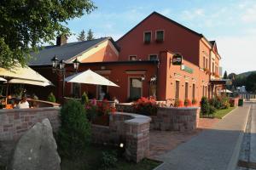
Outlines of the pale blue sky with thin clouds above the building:
[{"label": "pale blue sky with thin clouds above the building", "polygon": [[[216,40],[228,73],[256,70],[256,0],[93,0],[97,9],[68,21],[74,34],[92,29],[95,37],[119,37],[156,11]],[[76,41],[76,36],[69,42]],[[255,47],[254,47],[255,46]]]}]

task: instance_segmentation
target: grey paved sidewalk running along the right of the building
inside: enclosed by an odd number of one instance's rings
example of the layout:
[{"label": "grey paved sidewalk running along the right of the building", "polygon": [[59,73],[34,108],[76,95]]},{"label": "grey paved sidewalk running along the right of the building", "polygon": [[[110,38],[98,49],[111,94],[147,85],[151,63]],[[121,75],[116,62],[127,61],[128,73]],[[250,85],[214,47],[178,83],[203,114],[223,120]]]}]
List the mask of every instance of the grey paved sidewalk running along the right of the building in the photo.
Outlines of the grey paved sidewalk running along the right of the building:
[{"label": "grey paved sidewalk running along the right of the building", "polygon": [[[157,170],[226,170],[236,167],[249,107],[239,107],[211,129],[157,158]],[[230,169],[231,169],[230,168]]]}]

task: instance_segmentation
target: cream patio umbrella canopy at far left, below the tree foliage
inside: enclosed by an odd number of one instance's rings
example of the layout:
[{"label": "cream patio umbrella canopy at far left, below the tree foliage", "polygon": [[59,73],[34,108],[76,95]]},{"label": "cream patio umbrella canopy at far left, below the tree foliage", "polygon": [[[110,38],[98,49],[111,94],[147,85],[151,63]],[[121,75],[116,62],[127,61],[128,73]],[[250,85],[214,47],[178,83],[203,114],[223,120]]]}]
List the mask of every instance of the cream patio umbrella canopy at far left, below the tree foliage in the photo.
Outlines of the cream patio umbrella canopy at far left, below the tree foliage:
[{"label": "cream patio umbrella canopy at far left, below the tree foliage", "polygon": [[30,67],[15,66],[11,70],[0,68],[0,77],[4,77],[11,83],[26,83],[32,85],[47,86],[52,85],[49,80],[41,76],[37,71],[32,70]]}]

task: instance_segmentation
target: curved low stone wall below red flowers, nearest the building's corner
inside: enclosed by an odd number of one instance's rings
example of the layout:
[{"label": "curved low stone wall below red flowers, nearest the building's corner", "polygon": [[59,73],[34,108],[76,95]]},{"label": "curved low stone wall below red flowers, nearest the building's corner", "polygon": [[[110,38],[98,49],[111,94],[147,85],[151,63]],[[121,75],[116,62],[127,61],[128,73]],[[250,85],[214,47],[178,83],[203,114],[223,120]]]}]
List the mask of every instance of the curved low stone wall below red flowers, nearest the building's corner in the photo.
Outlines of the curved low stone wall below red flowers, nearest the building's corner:
[{"label": "curved low stone wall below red flowers, nearest the building's corner", "polygon": [[161,131],[189,131],[198,127],[200,108],[159,107],[157,116],[152,116],[150,129]]}]

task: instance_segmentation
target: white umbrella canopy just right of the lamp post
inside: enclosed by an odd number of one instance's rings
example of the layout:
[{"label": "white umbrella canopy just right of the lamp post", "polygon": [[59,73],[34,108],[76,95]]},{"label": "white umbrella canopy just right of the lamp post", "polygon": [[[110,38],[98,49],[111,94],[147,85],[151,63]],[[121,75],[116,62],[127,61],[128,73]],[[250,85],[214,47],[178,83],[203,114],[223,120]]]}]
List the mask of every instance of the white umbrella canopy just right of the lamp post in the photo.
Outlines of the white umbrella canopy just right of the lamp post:
[{"label": "white umbrella canopy just right of the lamp post", "polygon": [[65,82],[77,82],[77,83],[84,83],[84,84],[95,84],[95,85],[104,85],[104,86],[114,86],[119,87],[117,84],[109,81],[107,78],[98,75],[94,71],[90,71],[88,69],[84,72],[79,72],[70,77],[65,78]]}]

